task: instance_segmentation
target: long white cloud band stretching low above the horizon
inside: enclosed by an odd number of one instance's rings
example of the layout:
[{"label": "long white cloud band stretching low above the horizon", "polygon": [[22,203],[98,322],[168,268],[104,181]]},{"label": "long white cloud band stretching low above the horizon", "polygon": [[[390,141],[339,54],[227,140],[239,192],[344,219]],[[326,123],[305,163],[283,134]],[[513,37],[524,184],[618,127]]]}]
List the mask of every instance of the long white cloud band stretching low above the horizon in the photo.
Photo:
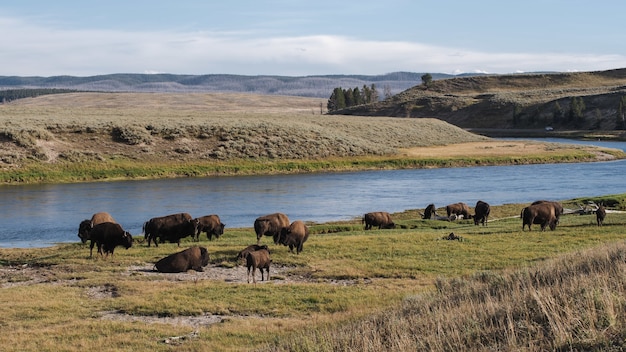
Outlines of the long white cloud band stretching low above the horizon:
[{"label": "long white cloud band stretching low above the horizon", "polygon": [[332,35],[258,38],[249,32],[78,31],[2,18],[0,31],[12,33],[3,36],[0,75],[513,73],[626,67],[626,58],[619,55],[487,53]]}]

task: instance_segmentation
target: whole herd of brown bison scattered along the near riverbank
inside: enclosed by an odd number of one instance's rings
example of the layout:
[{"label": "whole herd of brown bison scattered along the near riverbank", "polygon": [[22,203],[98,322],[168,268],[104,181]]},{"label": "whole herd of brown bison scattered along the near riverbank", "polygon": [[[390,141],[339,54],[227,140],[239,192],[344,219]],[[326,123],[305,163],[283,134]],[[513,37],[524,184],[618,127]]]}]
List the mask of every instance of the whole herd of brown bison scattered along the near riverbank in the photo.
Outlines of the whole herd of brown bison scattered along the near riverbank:
[{"label": "whole herd of brown bison scattered along the near riverbank", "polygon": [[[446,217],[436,213],[434,204],[429,204],[422,216],[422,219],[437,219],[454,221],[458,219],[473,219],[475,225],[487,226],[490,206],[488,203],[479,200],[474,207],[474,214],[471,214],[469,206],[465,203],[449,204],[445,207]],[[522,219],[522,231],[528,226],[531,231],[532,225],[539,225],[544,231],[546,227],[554,230],[559,222],[559,217],[563,214],[563,206],[554,201],[538,200],[522,209],[520,218]],[[606,210],[602,204],[596,210],[598,226],[602,226]],[[365,230],[373,227],[378,229],[393,229],[395,223],[388,212],[378,211],[363,215],[362,224]],[[191,237],[193,241],[199,241],[200,233],[207,234],[208,240],[213,236],[219,238],[224,234],[225,225],[220,221],[218,215],[206,215],[193,218],[188,213],[171,214],[167,216],[154,217],[146,221],[143,225],[144,241],[148,242],[148,247],[154,243],[158,247],[159,243],[177,243],[185,237]],[[272,236],[274,244],[282,244],[289,247],[289,251],[300,254],[303,244],[309,237],[309,228],[301,221],[289,222],[287,215],[283,213],[273,213],[258,217],[254,221],[254,231],[257,243],[241,250],[237,255],[238,261],[246,263],[248,282],[252,276],[252,281],[256,283],[256,270],[261,272],[261,280],[269,280],[270,250],[267,245],[261,245],[263,236]],[[118,246],[128,249],[133,245],[133,237],[125,231],[110,214],[101,212],[93,214],[91,219],[83,220],[78,227],[78,237],[82,243],[90,241],[89,257],[93,257],[93,247],[97,246],[98,254],[108,257],[113,256],[113,251]],[[186,272],[187,270],[202,271],[203,267],[209,263],[209,253],[206,248],[193,246],[183,251],[173,253],[158,260],[155,269],[162,273]],[[266,275],[264,275],[264,271]]]}]

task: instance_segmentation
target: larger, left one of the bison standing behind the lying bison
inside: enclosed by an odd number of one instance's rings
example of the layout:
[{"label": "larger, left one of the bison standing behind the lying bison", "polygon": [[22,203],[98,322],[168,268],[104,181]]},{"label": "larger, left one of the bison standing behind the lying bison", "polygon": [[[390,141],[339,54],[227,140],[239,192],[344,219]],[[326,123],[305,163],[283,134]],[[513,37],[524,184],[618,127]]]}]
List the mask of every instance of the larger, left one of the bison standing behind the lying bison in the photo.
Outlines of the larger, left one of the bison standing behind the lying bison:
[{"label": "larger, left one of the bison standing behind the lying bison", "polygon": [[194,237],[196,234],[197,222],[187,213],[179,213],[152,218],[143,224],[145,238],[150,242],[154,241],[155,246],[159,246],[157,239],[161,243],[167,241],[178,243],[180,239],[187,236]]}]

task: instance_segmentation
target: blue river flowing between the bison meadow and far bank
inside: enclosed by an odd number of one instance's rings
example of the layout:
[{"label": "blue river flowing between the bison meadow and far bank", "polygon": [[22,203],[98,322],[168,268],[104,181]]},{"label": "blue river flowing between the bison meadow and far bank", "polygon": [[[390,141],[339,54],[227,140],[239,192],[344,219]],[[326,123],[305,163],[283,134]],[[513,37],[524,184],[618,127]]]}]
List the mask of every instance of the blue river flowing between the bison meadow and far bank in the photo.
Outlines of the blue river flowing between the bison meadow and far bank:
[{"label": "blue river flowing between the bison meadow and far bank", "polygon": [[[587,143],[626,150],[626,142]],[[261,215],[291,221],[349,220],[455,202],[473,206],[626,193],[626,160],[576,164],[384,170],[0,187],[0,247],[78,241],[78,224],[107,211],[133,235],[155,216],[218,214],[229,227]]]}]

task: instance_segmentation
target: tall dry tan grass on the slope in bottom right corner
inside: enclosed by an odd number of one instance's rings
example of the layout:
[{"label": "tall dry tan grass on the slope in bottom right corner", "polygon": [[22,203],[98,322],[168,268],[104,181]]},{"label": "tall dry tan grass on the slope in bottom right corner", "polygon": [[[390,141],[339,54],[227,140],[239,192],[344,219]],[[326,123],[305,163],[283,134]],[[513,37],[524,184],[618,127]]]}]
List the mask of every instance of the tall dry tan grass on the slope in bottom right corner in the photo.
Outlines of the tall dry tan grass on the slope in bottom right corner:
[{"label": "tall dry tan grass on the slope in bottom right corner", "polygon": [[430,293],[366,320],[327,325],[268,351],[621,351],[626,243],[533,268],[438,279]]}]

